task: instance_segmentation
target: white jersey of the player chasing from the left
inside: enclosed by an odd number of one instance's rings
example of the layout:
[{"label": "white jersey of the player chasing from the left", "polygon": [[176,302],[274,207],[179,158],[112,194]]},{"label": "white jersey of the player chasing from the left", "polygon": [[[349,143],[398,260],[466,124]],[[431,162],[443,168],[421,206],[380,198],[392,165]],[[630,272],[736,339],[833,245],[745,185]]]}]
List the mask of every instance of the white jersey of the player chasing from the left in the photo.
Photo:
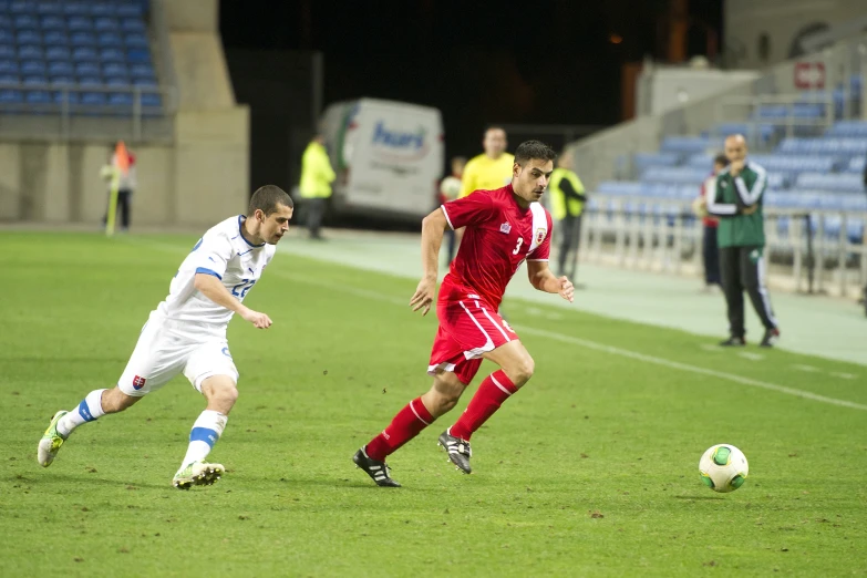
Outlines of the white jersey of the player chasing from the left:
[{"label": "white jersey of the player chasing from the left", "polygon": [[196,242],[168,289],[168,297],[156,310],[168,319],[202,323],[225,332],[234,311],[219,306],[196,290],[196,273],[213,275],[244,301],[273,257],[275,245],[252,245],[241,235],[246,217],[230,217],[209,228]]}]

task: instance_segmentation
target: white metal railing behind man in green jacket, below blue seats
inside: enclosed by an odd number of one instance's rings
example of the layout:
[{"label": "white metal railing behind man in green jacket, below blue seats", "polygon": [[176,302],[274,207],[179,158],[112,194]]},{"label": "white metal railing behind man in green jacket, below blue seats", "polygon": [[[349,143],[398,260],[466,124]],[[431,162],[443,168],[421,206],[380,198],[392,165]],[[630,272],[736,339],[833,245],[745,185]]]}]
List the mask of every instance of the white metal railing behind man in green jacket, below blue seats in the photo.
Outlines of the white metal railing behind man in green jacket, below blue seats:
[{"label": "white metal railing behind man in green jacket, below blue seats", "polygon": [[[590,193],[590,198],[581,227],[584,259],[675,275],[700,270],[702,223],[693,215],[691,200],[603,193]],[[861,295],[867,247],[863,236],[849,237],[848,224],[854,219],[867,224],[867,211],[772,207],[763,211],[766,255],[780,285],[807,293]],[[788,221],[782,233],[780,219]],[[825,235],[825,224],[837,219],[839,231],[832,239]]]}]

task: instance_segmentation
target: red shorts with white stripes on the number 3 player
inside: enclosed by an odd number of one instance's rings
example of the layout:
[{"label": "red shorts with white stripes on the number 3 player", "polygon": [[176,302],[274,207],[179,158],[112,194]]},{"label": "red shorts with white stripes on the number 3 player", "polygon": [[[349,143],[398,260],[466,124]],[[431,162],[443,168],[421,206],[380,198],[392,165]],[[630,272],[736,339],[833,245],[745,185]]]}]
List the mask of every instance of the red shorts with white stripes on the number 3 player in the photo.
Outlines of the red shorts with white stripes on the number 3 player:
[{"label": "red shorts with white stripes on the number 3 player", "polygon": [[497,310],[485,303],[478,295],[441,288],[440,296],[436,303],[440,329],[434,339],[427,373],[435,375],[441,369],[453,371],[461,383],[466,385],[478,371],[484,353],[519,338]]}]

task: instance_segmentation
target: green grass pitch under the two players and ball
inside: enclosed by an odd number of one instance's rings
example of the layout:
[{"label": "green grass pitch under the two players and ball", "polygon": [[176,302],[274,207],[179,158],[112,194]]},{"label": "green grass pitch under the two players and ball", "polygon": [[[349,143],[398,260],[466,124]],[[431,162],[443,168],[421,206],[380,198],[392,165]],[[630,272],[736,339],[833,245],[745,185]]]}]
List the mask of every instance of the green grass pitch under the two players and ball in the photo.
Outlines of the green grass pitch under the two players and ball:
[{"label": "green grass pitch under the two players and ball", "polygon": [[[414,280],[285,254],[246,301],[273,327],[229,328],[224,479],[171,486],[204,407],[183,376],[39,467],[49,417],[114,384],[195,240],[0,234],[1,576],[867,574],[866,368],[512,300],[536,374],[473,437],[474,474],[435,445],[471,388],[378,488],[350,457],[429,388],[436,320],[405,307]],[[750,460],[727,495],[698,473],[723,442]]]}]

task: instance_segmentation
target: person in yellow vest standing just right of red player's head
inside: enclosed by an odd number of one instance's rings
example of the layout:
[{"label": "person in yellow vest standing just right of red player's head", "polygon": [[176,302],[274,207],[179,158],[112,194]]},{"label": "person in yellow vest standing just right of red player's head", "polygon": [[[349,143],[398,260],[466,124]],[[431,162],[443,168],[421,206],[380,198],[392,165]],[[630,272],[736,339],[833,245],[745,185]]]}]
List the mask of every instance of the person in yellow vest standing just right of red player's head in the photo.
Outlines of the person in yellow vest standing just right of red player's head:
[{"label": "person in yellow vest standing just right of red player's head", "polygon": [[557,159],[557,168],[551,173],[551,179],[548,184],[548,195],[551,199],[551,217],[559,223],[562,231],[559,255],[557,256],[557,275],[566,275],[566,258],[572,250],[575,259],[572,260],[571,275],[575,277],[575,269],[578,262],[578,241],[581,235],[581,211],[587,197],[584,194],[584,185],[572,171],[572,155],[564,152]]}]

